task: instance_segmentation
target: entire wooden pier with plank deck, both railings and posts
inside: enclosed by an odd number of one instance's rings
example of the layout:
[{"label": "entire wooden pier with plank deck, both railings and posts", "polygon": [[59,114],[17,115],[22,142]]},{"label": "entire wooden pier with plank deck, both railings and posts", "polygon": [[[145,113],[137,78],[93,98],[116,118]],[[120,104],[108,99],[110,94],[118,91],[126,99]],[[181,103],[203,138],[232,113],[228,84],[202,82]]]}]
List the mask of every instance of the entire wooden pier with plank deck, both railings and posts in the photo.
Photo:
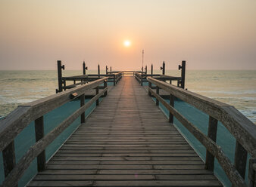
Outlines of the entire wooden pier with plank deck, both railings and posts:
[{"label": "entire wooden pier with plank deck, both railings and posts", "polygon": [[[58,93],[23,104],[0,121],[0,151],[5,172],[0,186],[17,186],[35,159],[38,173],[27,184],[30,187],[222,186],[214,176],[217,159],[233,186],[248,186],[247,171],[249,186],[255,187],[255,125],[233,106],[184,89],[185,67],[183,61],[180,77],[164,75],[165,63],[163,75],[153,74],[153,66],[151,74],[108,72],[106,66],[106,74],[101,75],[98,66],[98,75],[85,75],[84,64],[84,75],[65,78],[61,75],[64,66],[58,62]],[[67,85],[66,81],[73,84]],[[114,85],[109,86],[109,81]],[[148,82],[148,86],[142,86],[143,82]],[[100,97],[103,97],[101,102]],[[176,98],[209,116],[208,134],[175,109]],[[44,115],[73,100],[80,100],[80,107],[45,134]],[[86,109],[93,103],[96,108],[86,118]],[[161,112],[159,103],[169,111],[168,118]],[[205,162],[173,125],[174,117],[205,147]],[[46,161],[45,149],[76,118],[80,118],[80,127]],[[35,121],[35,135],[31,138],[35,136],[36,143],[16,161],[15,138],[32,121]],[[234,162],[216,143],[218,121],[236,139]]]}]

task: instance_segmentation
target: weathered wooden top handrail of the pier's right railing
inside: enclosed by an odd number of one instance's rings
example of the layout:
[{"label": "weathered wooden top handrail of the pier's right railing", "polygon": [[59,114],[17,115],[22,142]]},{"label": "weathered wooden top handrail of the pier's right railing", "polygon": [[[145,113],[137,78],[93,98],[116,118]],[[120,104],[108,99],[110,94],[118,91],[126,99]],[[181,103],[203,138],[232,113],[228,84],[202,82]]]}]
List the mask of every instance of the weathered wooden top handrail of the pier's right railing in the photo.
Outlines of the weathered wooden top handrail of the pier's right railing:
[{"label": "weathered wooden top handrail of the pier's right railing", "polygon": [[148,77],[148,81],[221,121],[239,143],[256,157],[256,126],[235,107]]}]

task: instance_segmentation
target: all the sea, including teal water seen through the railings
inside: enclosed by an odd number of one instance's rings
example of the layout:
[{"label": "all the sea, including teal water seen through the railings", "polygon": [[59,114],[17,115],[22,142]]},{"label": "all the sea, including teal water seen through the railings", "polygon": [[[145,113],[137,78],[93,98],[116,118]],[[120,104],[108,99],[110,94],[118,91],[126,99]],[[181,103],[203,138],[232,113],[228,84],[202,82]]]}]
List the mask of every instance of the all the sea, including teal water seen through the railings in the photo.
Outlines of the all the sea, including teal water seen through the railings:
[{"label": "all the sea, including teal water seen through the railings", "polygon": [[[96,71],[87,71],[87,74],[95,74]],[[102,72],[103,73],[103,72]],[[155,74],[161,73],[155,71]],[[63,76],[82,75],[81,71],[64,70]],[[166,75],[180,76],[178,70],[167,70]],[[42,97],[55,94],[58,87],[57,71],[0,71],[0,116],[4,118],[17,106],[23,103],[29,103]],[[186,71],[185,87],[195,93],[219,100],[235,106],[243,115],[256,124],[256,71]],[[86,100],[88,102],[89,100]],[[169,101],[167,101],[169,103]],[[175,108],[182,113],[192,124],[195,124],[205,135],[208,133],[208,115],[195,109],[195,107],[181,100],[175,100]],[[80,108],[80,101],[74,100],[65,103],[63,106],[52,110],[44,115],[45,134],[57,127],[61,121],[64,121],[76,109]],[[165,115],[169,111],[160,103],[160,108]],[[95,109],[95,103],[86,110],[86,116]],[[196,118],[195,118],[196,116]],[[1,120],[1,119],[0,119]],[[46,149],[45,155],[48,161],[55,154],[68,136],[80,125],[80,119],[73,121],[58,138],[56,138]],[[174,118],[174,125],[187,139],[188,143],[195,149],[198,155],[205,161],[206,149],[198,139],[189,133],[180,121]],[[35,124],[32,121],[19,135],[14,139],[15,157],[17,162],[30,149],[30,146],[36,142]],[[221,146],[223,152],[230,161],[234,161],[236,150],[236,139],[226,127],[218,121],[217,127],[217,145]],[[248,154],[249,159],[251,156]],[[37,173],[36,159],[30,164],[24,175],[19,181],[19,187],[23,187],[30,182]],[[231,182],[215,158],[214,173],[223,182],[226,187],[231,187]],[[0,153],[0,184],[4,179],[3,159]],[[245,173],[246,182],[248,182],[248,161]]]}]

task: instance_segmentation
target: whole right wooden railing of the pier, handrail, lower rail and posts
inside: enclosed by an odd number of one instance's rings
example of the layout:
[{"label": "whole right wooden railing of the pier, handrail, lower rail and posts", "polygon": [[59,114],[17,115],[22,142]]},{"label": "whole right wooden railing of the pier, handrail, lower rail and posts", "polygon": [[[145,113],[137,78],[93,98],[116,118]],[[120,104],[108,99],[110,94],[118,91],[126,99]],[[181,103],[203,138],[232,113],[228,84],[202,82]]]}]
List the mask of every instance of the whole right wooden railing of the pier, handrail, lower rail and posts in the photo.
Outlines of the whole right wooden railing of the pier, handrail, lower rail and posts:
[{"label": "whole right wooden railing of the pier, handrail, lower rail and posts", "polygon": [[[137,74],[139,75],[139,74]],[[184,90],[156,78],[148,77],[148,94],[156,98],[156,105],[161,102],[170,112],[169,121],[173,123],[173,116],[195,136],[207,149],[205,168],[214,170],[214,158],[220,163],[233,186],[247,186],[245,183],[245,170],[247,154],[251,155],[248,168],[250,186],[254,186],[256,168],[256,127],[242,113],[233,106],[203,97],[197,93]],[[151,85],[155,84],[156,92]],[[159,88],[170,93],[170,103],[167,103],[160,95]],[[208,136],[201,132],[192,122],[187,120],[180,112],[174,109],[174,97],[180,98],[195,108],[209,115]],[[233,164],[224,154],[223,149],[217,145],[217,121],[222,122],[227,130],[236,138],[235,163]]]}]

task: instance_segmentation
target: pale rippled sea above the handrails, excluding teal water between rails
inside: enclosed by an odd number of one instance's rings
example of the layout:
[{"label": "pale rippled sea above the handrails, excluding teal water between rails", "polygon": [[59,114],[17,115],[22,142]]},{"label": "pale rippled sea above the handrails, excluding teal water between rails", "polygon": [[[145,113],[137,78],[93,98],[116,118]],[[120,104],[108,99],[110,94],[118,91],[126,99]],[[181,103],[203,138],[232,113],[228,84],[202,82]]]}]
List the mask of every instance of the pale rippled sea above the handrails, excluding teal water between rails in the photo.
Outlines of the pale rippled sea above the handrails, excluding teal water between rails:
[{"label": "pale rippled sea above the handrails, excluding teal water between rails", "polygon": [[[167,70],[165,74],[180,76],[180,71]],[[82,75],[82,71],[63,71],[63,76],[70,75]],[[186,70],[185,87],[205,97],[235,106],[256,124],[256,71]],[[55,94],[56,88],[57,70],[0,71],[0,118],[23,103]]]}]

